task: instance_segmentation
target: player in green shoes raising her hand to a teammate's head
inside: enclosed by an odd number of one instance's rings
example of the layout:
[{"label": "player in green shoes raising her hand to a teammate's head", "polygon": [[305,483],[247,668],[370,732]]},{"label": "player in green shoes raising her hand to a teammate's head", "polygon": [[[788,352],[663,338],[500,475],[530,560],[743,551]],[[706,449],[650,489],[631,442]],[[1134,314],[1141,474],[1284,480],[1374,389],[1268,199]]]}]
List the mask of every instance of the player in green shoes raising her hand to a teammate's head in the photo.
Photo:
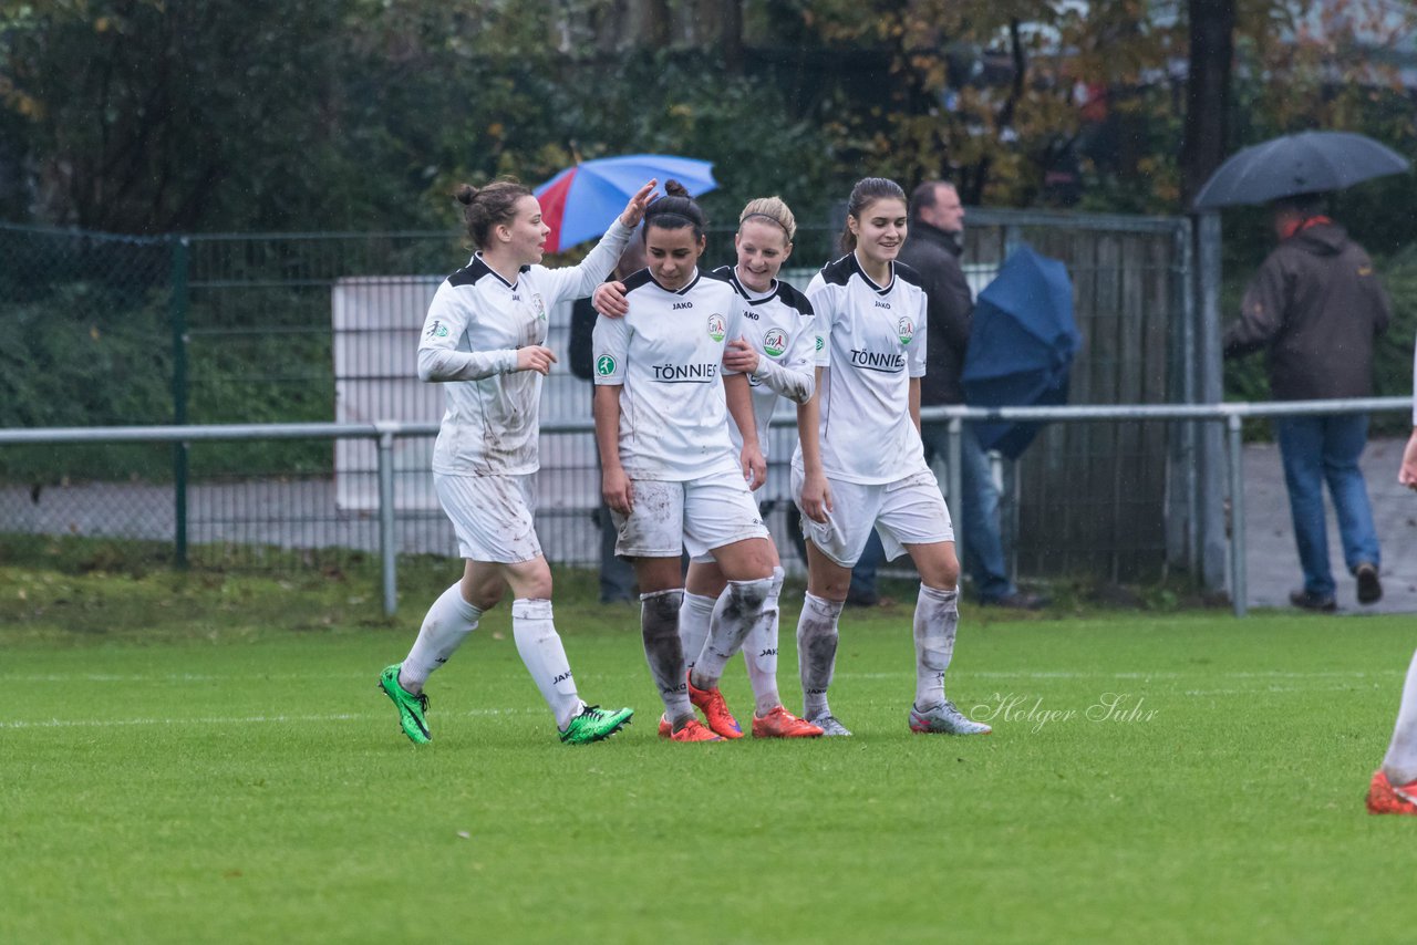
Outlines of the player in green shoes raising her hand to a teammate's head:
[{"label": "player in green shoes raising her hand to a teammate's head", "polygon": [[434,446],[434,486],[466,560],[462,579],[424,618],[402,663],[380,674],[404,734],[432,740],[424,683],[448,662],[485,611],[510,585],[517,653],[555,714],[563,742],[599,741],[633,714],[587,706],[575,690],[551,618],[551,570],[533,523],[541,377],[555,354],[546,347],[547,316],[561,302],[588,296],[615,266],[655,181],[645,184],[584,262],[547,269],[550,228],[521,184],[482,190],[463,184],[468,234],[478,247],[468,265],[434,295],[418,346],[418,377],[441,383],[446,412]]}]

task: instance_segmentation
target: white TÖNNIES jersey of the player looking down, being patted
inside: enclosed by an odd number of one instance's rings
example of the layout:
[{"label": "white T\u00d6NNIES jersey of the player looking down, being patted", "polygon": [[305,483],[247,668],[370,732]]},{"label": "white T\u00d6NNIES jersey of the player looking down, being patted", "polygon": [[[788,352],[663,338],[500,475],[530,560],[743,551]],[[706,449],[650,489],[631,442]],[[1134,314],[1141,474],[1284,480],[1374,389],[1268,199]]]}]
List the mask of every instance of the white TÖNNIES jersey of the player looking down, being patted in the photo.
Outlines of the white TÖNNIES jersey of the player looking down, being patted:
[{"label": "white T\u00d6NNIES jersey of the player looking down, being patted", "polygon": [[597,319],[595,384],[619,385],[619,455],[631,479],[737,473],[723,350],[743,330],[738,295],[694,272],[677,292],[642,269],[625,279],[623,319]]}]

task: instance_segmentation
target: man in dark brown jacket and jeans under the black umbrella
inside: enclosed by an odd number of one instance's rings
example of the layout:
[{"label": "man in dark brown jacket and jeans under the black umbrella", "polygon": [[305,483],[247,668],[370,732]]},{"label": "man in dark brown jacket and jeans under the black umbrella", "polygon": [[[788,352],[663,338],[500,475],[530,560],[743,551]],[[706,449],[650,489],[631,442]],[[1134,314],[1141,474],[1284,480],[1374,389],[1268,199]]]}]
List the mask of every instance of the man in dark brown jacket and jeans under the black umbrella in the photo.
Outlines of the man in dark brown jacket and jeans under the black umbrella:
[{"label": "man in dark brown jacket and jeans under the black umbrella", "polygon": [[[1275,201],[1274,232],[1280,245],[1246,289],[1240,322],[1226,332],[1226,357],[1264,349],[1275,400],[1372,395],[1373,341],[1391,312],[1372,259],[1323,215],[1318,194]],[[1383,596],[1382,560],[1357,465],[1367,443],[1367,415],[1277,417],[1274,429],[1304,570],[1304,588],[1289,594],[1289,602],[1308,611],[1338,608],[1323,521],[1325,482],[1338,513],[1343,562],[1357,578],[1357,602],[1376,602]]]}]

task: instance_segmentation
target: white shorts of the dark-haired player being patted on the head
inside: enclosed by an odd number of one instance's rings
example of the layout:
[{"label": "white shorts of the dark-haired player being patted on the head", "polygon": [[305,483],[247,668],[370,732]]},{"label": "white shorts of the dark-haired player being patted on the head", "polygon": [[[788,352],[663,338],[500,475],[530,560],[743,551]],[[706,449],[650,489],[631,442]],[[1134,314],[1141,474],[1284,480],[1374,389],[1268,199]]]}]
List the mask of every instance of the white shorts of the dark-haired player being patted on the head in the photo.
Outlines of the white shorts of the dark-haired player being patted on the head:
[{"label": "white shorts of the dark-haired player being patted on the head", "polygon": [[735,472],[687,482],[632,479],[635,503],[628,516],[611,511],[619,538],[615,554],[626,558],[690,558],[707,555],[745,538],[767,538],[748,485]]}]

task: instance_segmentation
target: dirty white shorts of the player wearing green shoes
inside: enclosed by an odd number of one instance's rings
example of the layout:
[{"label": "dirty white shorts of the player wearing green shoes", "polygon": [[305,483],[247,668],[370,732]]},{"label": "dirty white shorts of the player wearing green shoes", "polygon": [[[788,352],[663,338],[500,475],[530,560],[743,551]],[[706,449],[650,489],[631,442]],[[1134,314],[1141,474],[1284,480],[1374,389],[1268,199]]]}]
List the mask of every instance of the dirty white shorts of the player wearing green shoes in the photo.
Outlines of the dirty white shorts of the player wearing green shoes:
[{"label": "dirty white shorts of the player wearing green shoes", "polygon": [[536,473],[451,476],[434,473],[438,502],[452,519],[458,554],[469,561],[519,564],[541,554],[536,537]]}]

